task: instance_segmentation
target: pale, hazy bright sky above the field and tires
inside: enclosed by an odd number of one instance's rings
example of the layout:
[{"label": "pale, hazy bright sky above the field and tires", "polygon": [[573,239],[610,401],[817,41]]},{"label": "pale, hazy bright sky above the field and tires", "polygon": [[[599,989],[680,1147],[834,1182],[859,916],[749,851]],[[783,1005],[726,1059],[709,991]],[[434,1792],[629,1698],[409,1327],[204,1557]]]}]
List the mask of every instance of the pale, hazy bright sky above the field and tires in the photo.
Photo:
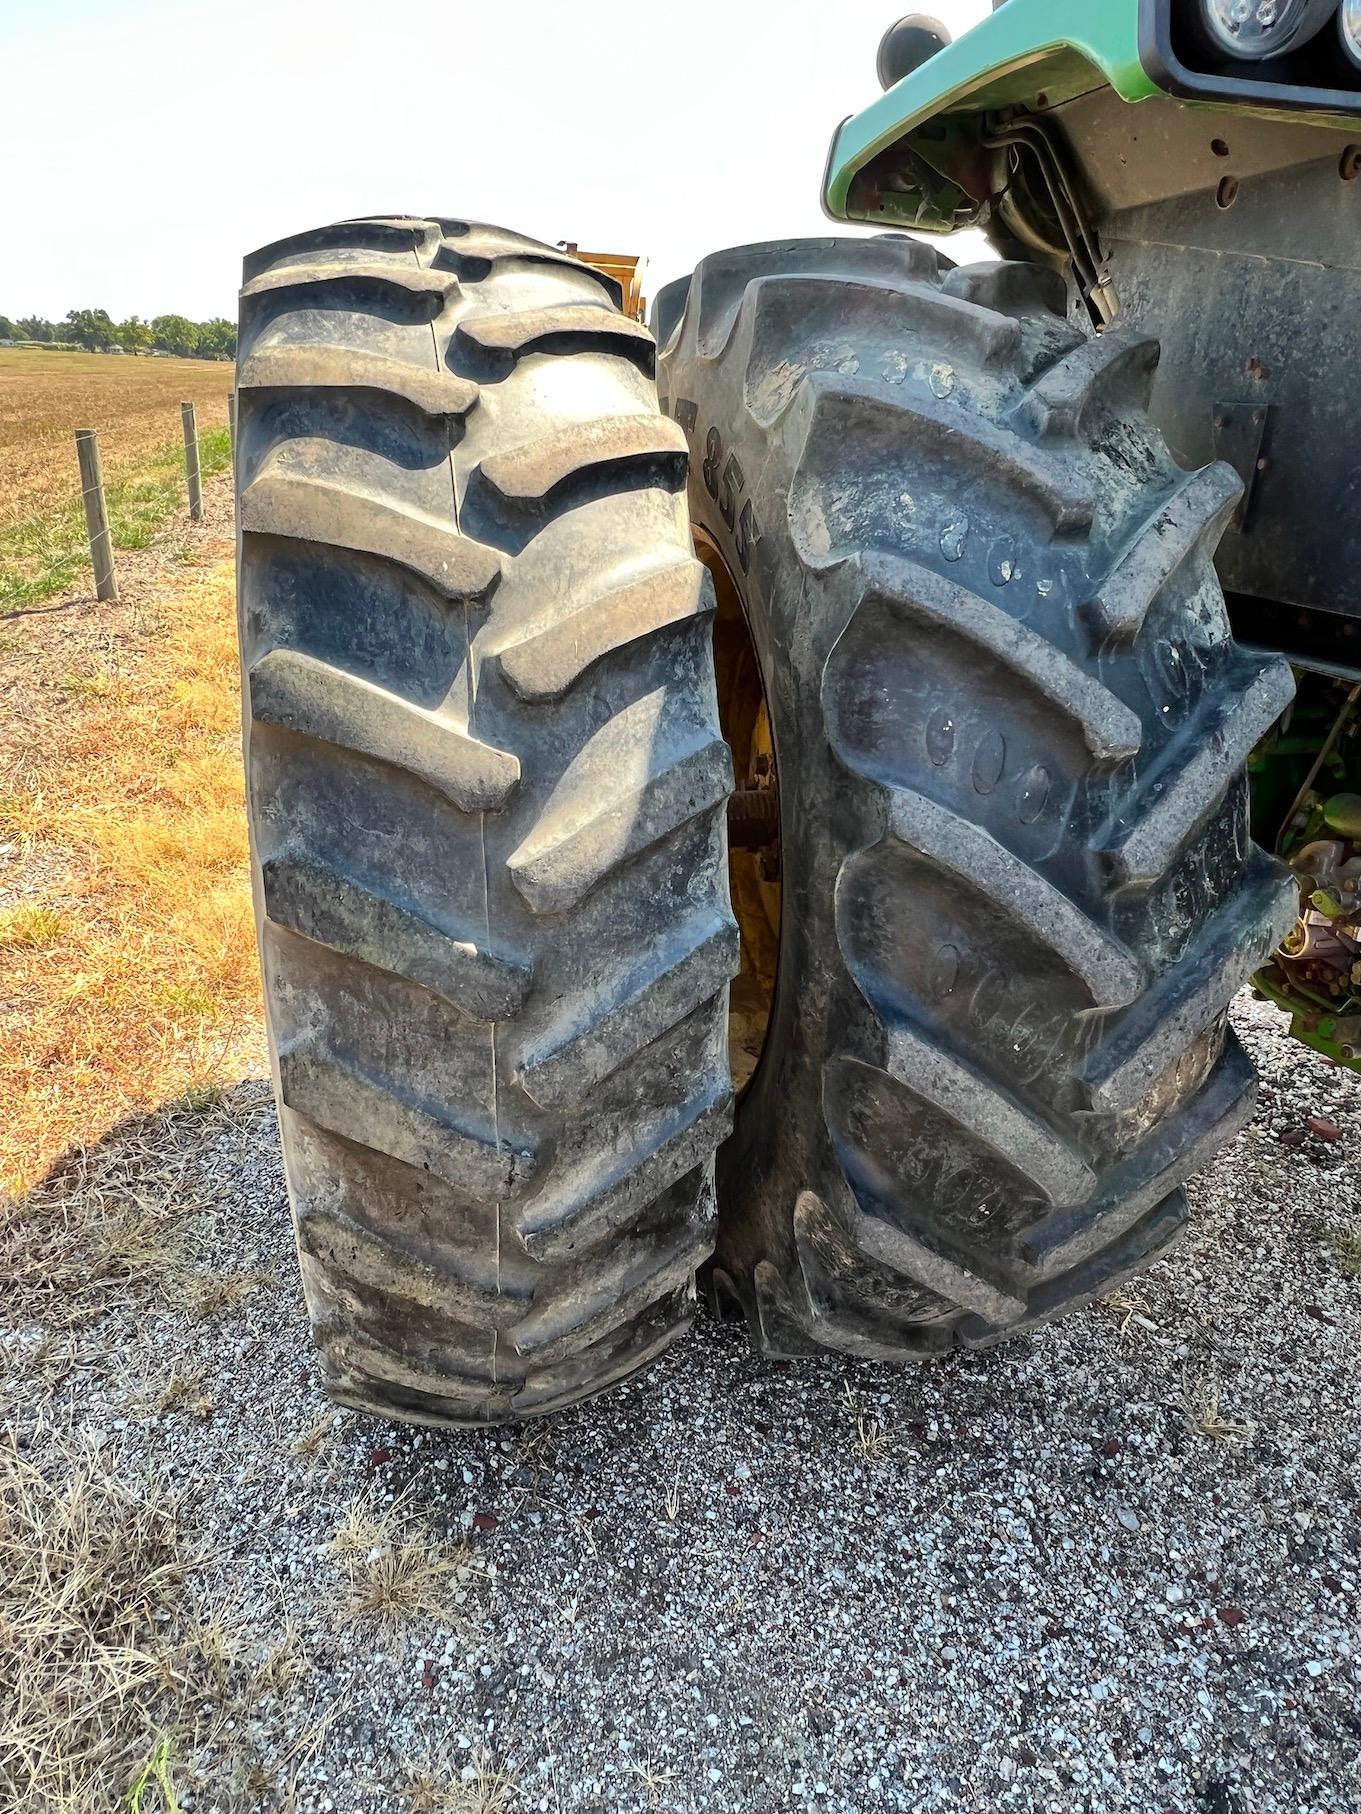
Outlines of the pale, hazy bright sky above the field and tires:
[{"label": "pale, hazy bright sky above the field and tires", "polygon": [[[904,7],[904,11],[907,11]],[[987,0],[944,0],[960,31]],[[889,0],[0,0],[0,310],[234,316],[241,254],[374,210],[650,256],[827,232]]]}]

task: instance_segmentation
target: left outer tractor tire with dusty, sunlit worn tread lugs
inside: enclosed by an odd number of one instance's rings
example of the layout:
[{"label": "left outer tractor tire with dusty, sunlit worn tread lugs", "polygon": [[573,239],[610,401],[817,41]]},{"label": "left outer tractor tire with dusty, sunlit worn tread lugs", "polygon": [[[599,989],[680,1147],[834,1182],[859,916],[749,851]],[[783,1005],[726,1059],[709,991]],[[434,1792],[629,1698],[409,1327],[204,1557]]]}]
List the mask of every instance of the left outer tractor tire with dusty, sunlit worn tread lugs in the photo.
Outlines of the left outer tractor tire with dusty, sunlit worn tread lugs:
[{"label": "left outer tractor tire with dusty, sunlit worn tread lugs", "polygon": [[691,1321],[731,1123],[686,446],[610,279],[468,221],[245,261],[252,862],[330,1395],[481,1424]]}]

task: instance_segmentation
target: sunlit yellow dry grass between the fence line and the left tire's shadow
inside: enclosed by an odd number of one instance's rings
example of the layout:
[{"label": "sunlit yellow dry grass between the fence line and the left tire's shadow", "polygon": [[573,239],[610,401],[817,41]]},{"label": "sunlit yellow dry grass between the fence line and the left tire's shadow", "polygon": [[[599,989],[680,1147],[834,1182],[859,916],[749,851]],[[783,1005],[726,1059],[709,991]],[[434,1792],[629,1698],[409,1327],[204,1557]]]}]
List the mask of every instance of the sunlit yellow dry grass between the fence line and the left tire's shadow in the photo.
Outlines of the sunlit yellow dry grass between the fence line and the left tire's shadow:
[{"label": "sunlit yellow dry grass between the fence line and the left tire's shadow", "polygon": [[259,1067],[232,568],[0,655],[0,1192]]}]

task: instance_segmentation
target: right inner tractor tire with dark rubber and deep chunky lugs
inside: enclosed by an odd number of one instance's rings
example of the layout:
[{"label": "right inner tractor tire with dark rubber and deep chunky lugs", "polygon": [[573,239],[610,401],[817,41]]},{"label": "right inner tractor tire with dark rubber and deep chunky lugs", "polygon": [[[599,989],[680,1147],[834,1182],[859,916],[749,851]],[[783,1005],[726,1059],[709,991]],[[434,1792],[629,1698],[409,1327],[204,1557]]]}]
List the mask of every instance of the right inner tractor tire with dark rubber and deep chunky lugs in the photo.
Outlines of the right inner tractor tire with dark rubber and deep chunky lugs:
[{"label": "right inner tractor tire with dark rubber and deep chunky lugs", "polygon": [[1033,267],[740,247],[653,327],[782,816],[715,1297],[780,1355],[996,1341],[1163,1252],[1252,1105],[1227,1005],[1296,900],[1245,758],[1292,680],[1229,635],[1238,477]]}]

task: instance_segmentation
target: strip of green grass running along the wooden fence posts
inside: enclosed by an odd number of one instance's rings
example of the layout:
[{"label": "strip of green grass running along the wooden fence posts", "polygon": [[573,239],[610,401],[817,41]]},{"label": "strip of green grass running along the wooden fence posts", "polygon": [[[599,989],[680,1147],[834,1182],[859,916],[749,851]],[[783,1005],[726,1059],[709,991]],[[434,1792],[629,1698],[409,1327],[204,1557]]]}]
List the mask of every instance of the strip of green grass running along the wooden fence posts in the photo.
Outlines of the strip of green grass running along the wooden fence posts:
[{"label": "strip of green grass running along the wooden fence posts", "polygon": [[[207,428],[198,441],[198,461],[205,479],[227,472],[230,432]],[[187,502],[183,444],[167,446],[134,473],[109,481],[103,497],[114,550],[145,548],[165,519]],[[94,575],[78,492],[56,510],[0,533],[0,611],[22,611],[82,590],[94,590]]]}]

